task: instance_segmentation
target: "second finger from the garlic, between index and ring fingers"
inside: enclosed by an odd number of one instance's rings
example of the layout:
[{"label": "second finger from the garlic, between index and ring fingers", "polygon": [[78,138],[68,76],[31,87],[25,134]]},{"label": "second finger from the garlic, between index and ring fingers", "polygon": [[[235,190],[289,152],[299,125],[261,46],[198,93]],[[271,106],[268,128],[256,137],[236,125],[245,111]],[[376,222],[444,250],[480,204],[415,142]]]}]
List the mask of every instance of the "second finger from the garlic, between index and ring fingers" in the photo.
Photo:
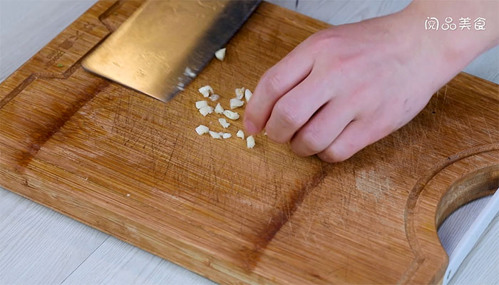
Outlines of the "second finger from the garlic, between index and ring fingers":
[{"label": "second finger from the garlic, between index and ring fingers", "polygon": [[312,71],[304,81],[274,105],[272,115],[265,126],[269,139],[278,143],[291,140],[294,133],[327,103],[331,93],[334,93],[334,90],[326,88],[324,76],[314,76]]}]

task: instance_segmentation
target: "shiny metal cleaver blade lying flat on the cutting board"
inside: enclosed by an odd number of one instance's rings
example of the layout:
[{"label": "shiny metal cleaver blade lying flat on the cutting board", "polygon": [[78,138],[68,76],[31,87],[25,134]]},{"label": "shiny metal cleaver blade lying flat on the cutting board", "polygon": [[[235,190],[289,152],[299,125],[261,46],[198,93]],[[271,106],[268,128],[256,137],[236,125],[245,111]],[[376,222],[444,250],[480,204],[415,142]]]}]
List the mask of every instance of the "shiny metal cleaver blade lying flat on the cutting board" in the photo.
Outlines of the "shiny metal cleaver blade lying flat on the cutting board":
[{"label": "shiny metal cleaver blade lying flat on the cutting board", "polygon": [[202,71],[259,2],[148,1],[82,66],[166,102]]}]

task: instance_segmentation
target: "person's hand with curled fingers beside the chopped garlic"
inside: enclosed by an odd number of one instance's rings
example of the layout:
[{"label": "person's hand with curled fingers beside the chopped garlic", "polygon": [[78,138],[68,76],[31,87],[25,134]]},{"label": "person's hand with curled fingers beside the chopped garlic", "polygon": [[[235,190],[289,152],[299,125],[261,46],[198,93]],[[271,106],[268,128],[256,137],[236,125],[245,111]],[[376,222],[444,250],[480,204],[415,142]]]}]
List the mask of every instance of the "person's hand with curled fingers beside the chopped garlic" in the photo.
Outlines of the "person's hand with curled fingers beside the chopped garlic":
[{"label": "person's hand with curled fingers beside the chopped garlic", "polygon": [[259,81],[247,133],[265,128],[297,155],[340,162],[408,123],[473,58],[451,59],[409,16],[331,27],[300,43]]}]

